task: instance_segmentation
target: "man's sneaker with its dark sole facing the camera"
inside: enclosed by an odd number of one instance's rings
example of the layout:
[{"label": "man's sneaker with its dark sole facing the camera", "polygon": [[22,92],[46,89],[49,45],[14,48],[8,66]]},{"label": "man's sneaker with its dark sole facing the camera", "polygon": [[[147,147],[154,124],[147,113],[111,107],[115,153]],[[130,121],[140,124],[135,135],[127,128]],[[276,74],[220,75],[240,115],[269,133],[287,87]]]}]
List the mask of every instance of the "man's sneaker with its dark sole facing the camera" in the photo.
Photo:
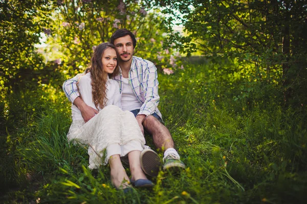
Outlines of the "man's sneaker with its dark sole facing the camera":
[{"label": "man's sneaker with its dark sole facing the camera", "polygon": [[159,155],[151,150],[144,149],[140,155],[141,168],[147,175],[152,177],[157,176],[162,166]]}]

